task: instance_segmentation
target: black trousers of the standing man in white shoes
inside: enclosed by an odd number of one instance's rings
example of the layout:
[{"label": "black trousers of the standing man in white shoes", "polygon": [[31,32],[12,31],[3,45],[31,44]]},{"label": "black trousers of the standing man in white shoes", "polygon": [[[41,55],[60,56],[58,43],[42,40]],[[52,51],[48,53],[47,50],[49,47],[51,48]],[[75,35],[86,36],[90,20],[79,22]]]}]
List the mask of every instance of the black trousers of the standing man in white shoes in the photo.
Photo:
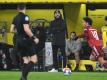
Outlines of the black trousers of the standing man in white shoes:
[{"label": "black trousers of the standing man in white shoes", "polygon": [[[53,67],[55,69],[58,69],[59,66],[58,66],[58,50],[60,49],[60,52],[61,52],[61,56],[63,58],[63,68],[66,67],[66,62],[67,62],[67,59],[66,59],[66,54],[65,54],[65,45],[62,46],[62,45],[53,45],[52,46],[53,48]],[[62,63],[61,61],[59,63]]]}]

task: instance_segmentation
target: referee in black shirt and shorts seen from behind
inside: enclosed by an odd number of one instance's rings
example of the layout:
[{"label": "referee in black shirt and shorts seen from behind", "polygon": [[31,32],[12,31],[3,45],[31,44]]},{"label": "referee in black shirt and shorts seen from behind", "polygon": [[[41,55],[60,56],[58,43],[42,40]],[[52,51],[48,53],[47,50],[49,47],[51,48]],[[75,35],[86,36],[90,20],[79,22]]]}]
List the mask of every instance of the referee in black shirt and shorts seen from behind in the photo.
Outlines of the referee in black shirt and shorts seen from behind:
[{"label": "referee in black shirt and shorts seen from behind", "polygon": [[27,80],[28,72],[37,62],[34,43],[38,44],[39,39],[33,35],[29,28],[29,17],[25,14],[26,5],[17,5],[18,14],[14,17],[10,32],[17,33],[17,48],[23,59],[22,76],[20,80]]}]

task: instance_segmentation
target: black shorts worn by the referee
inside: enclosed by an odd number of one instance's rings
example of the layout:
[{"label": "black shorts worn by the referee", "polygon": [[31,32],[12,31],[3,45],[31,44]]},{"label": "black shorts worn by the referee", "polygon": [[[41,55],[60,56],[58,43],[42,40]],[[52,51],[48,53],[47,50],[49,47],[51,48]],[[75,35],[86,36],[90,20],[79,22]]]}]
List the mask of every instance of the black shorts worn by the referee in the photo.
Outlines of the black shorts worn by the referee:
[{"label": "black shorts worn by the referee", "polygon": [[17,48],[21,57],[33,56],[36,54],[35,43],[29,37],[18,36]]}]

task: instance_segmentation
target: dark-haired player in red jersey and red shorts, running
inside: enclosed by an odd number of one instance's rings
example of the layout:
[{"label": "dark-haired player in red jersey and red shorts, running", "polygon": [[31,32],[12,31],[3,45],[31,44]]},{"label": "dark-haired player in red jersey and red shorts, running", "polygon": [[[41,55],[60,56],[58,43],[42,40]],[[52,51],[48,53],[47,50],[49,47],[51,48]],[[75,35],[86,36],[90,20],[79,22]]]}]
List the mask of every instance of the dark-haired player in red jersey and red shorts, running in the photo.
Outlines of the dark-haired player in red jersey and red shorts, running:
[{"label": "dark-haired player in red jersey and red shorts, running", "polygon": [[89,17],[83,18],[84,36],[92,49],[90,60],[97,60],[104,68],[107,68],[107,61],[104,60],[103,44],[98,36],[96,29],[92,28],[92,19]]}]

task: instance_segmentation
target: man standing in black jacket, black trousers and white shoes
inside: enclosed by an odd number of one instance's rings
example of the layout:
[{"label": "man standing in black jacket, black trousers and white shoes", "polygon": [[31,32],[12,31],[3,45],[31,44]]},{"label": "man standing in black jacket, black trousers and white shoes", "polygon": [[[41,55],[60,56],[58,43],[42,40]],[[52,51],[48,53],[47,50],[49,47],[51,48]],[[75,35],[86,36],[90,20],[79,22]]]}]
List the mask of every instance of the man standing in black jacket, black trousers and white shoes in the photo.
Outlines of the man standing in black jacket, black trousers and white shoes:
[{"label": "man standing in black jacket, black trousers and white shoes", "polygon": [[53,69],[49,72],[58,72],[58,59],[57,52],[60,49],[62,59],[63,59],[63,68],[66,67],[66,55],[65,55],[65,32],[66,25],[65,21],[62,19],[62,14],[59,10],[54,12],[55,20],[51,22],[51,32],[53,35]]}]

